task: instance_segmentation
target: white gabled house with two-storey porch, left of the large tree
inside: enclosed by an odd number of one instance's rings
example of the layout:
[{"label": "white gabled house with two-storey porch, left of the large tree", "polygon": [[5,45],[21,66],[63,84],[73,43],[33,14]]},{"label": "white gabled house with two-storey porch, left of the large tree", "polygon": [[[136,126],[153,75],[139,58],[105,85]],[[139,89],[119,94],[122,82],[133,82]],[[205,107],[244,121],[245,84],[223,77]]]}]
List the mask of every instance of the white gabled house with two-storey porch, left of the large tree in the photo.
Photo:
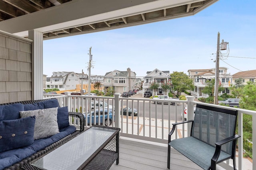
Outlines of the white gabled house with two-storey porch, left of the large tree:
[{"label": "white gabled house with two-storey porch, left of the large tree", "polygon": [[152,82],[159,83],[158,90],[157,92],[155,92],[155,94],[164,94],[161,84],[170,83],[170,78],[171,78],[170,71],[161,71],[156,68],[153,71],[148,71],[146,74],[147,75],[143,78],[144,83],[142,84],[143,94],[145,91],[148,91],[148,90],[151,91],[153,94],[153,89],[150,89]]}]

